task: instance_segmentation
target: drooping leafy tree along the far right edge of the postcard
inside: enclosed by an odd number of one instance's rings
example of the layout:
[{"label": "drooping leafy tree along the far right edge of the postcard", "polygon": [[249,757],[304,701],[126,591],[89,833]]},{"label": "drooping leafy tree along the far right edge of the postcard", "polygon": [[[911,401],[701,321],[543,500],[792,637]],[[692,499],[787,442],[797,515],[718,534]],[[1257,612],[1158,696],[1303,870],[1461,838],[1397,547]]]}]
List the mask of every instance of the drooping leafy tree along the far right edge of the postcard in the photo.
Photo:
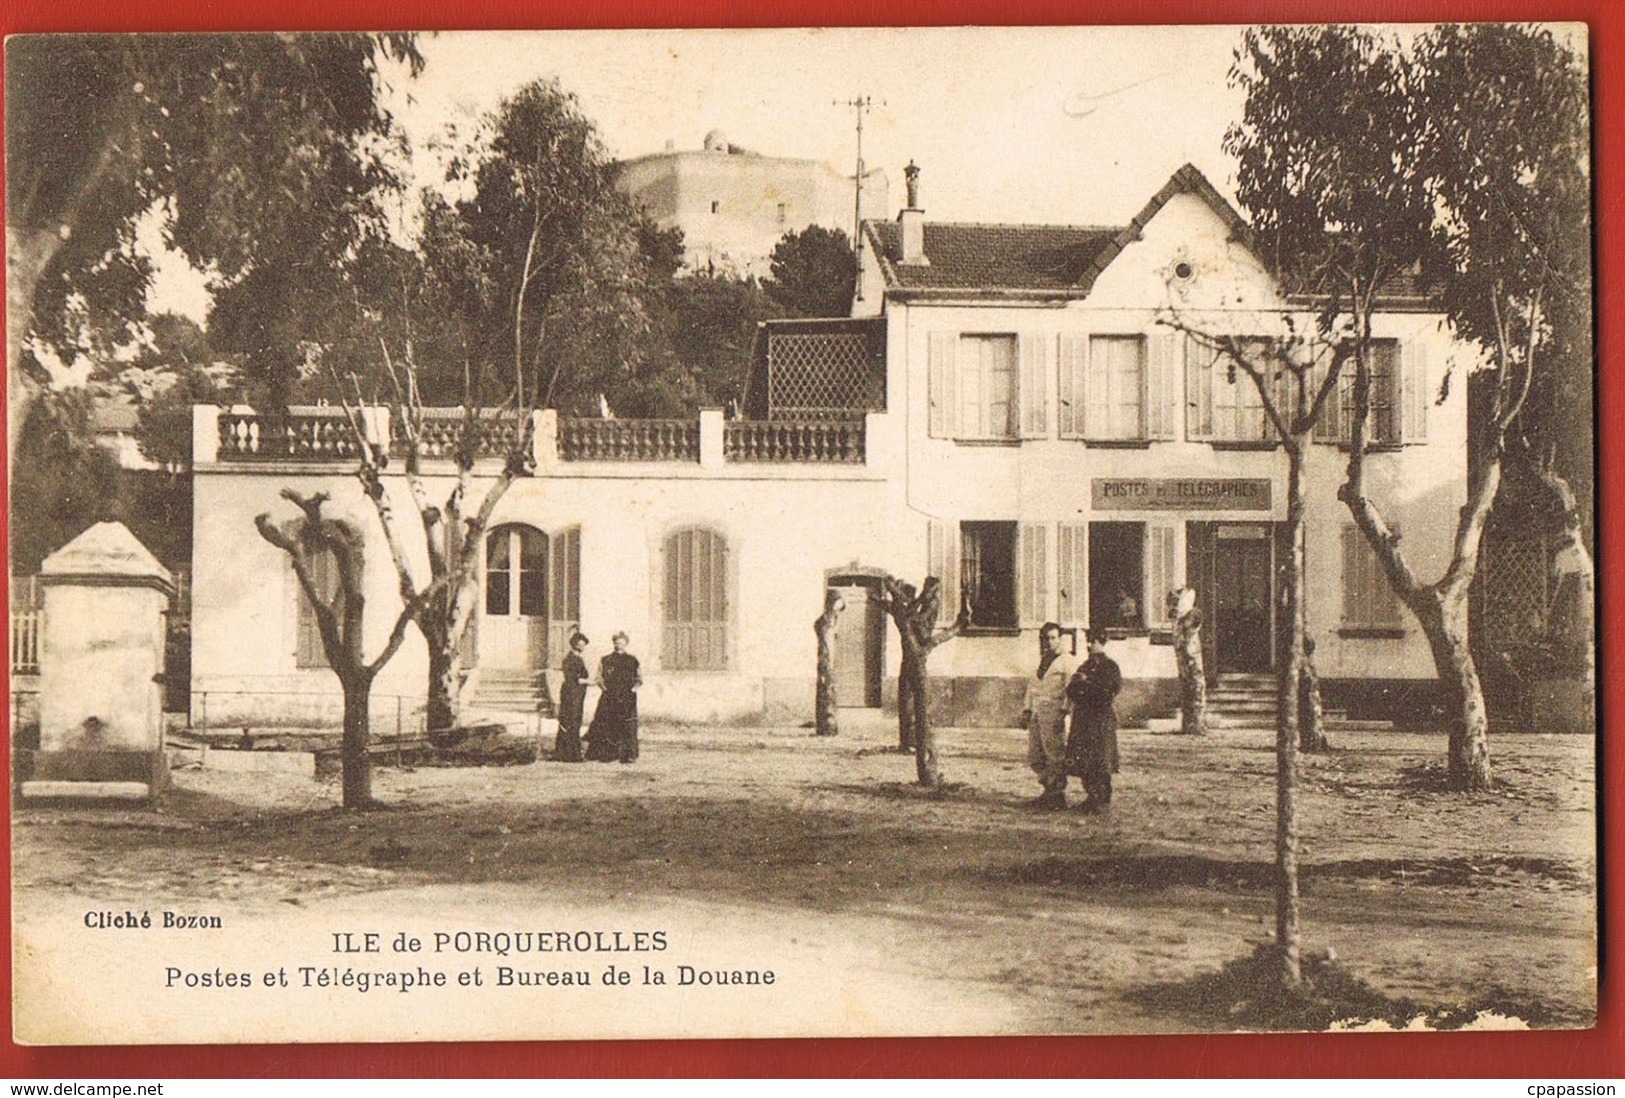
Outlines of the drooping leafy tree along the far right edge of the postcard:
[{"label": "drooping leafy tree along the far right edge of the postcard", "polygon": [[[1594,361],[1586,73],[1550,31],[1443,26],[1417,49],[1433,226],[1428,274],[1451,325],[1482,348],[1474,463],[1500,458],[1547,492],[1578,564],[1575,646],[1594,674],[1586,544]],[[1576,492],[1576,487],[1584,492]]]}]

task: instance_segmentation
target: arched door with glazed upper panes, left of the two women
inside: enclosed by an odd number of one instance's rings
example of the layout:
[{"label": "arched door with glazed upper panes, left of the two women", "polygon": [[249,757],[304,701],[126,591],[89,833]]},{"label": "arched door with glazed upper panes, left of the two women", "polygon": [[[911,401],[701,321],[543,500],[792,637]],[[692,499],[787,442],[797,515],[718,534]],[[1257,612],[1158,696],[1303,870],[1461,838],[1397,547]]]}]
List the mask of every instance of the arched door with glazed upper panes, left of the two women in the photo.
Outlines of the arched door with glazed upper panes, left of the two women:
[{"label": "arched door with glazed upper panes, left of the two women", "polygon": [[486,599],[479,666],[540,671],[548,666],[548,536],[531,526],[497,526],[486,536]]}]

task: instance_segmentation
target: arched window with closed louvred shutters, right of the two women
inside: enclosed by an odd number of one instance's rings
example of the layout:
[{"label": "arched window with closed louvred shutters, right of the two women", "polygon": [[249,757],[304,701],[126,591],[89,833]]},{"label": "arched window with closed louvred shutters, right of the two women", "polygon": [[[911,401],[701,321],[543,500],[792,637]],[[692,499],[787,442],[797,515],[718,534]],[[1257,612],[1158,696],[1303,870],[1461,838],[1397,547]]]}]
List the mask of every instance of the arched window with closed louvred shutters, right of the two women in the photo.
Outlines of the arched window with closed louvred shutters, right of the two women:
[{"label": "arched window with closed louvred shutters, right of the two women", "polygon": [[728,546],[704,526],[666,534],[660,666],[722,671],[728,666]]}]

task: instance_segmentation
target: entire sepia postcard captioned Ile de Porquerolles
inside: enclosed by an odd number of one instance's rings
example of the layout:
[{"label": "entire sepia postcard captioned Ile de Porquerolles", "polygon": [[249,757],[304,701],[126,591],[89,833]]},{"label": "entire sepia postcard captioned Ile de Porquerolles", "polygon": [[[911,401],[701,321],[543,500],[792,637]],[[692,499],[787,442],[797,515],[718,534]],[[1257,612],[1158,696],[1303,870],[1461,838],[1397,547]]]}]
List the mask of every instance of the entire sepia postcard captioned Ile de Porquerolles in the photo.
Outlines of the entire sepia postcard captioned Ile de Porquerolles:
[{"label": "entire sepia postcard captioned Ile de Porquerolles", "polygon": [[8,37],[13,1041],[1596,1027],[1589,58]]}]

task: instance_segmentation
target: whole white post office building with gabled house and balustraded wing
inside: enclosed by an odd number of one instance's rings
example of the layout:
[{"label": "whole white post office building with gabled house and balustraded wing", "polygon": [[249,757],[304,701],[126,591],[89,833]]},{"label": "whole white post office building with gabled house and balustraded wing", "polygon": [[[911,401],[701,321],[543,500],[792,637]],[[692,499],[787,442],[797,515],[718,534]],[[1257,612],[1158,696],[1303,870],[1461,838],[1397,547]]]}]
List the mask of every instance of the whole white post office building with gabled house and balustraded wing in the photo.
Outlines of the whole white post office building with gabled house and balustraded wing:
[{"label": "whole white post office building with gabled house and balustraded wing", "polygon": [[[866,599],[884,573],[938,575],[972,603],[972,629],[933,658],[942,724],[1016,721],[1045,620],[1112,630],[1126,721],[1170,713],[1162,596],[1186,583],[1211,669],[1272,668],[1285,458],[1245,380],[1165,323],[1170,305],[1243,326],[1289,307],[1212,187],[1181,169],[1116,227],[905,210],[868,223],[863,245],[873,315],[764,328],[746,419],[541,414],[538,473],[509,491],[488,543],[473,690],[556,668],[578,622],[592,655],[632,633],[648,716],[801,721],[809,625],[837,585],[842,698],[878,705],[897,666]],[[1458,349],[1427,302],[1393,296],[1376,338],[1367,476],[1425,575],[1466,497],[1466,387],[1433,400]],[[393,620],[395,572],[340,434],[323,409],[198,409],[192,669],[211,721],[315,716],[336,697],[288,560],[254,533],[257,513],[291,512],[281,487],[332,492],[366,531],[369,629]],[[1310,630],[1334,700],[1396,715],[1417,708],[1433,666],[1336,500],[1344,463],[1332,427],[1306,469]],[[421,698],[424,676],[413,638],[377,692]]]}]

